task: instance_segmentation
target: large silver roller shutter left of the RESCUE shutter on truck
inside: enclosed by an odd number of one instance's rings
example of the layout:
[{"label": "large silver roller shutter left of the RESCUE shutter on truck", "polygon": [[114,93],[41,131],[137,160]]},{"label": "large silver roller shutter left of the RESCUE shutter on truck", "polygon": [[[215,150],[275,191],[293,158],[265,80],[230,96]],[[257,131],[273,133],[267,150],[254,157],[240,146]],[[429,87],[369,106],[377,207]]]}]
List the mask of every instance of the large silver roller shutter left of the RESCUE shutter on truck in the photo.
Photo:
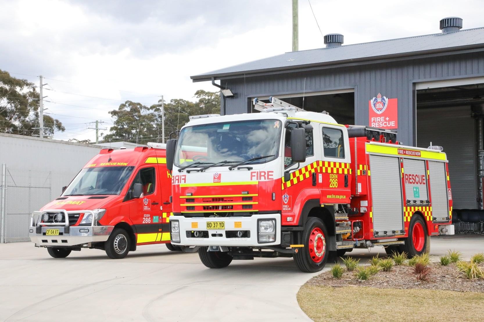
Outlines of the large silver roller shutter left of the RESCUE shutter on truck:
[{"label": "large silver roller shutter left of the RESCUE shutter on truck", "polygon": [[373,229],[403,229],[402,181],[398,157],[370,155]]}]

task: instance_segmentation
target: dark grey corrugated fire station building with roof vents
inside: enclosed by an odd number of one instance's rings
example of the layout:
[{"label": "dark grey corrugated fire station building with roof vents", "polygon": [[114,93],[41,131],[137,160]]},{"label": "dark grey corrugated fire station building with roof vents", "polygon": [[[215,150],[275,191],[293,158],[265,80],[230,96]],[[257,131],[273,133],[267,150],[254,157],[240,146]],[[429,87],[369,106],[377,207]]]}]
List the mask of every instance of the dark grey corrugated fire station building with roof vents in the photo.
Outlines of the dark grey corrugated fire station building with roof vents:
[{"label": "dark grey corrugated fire station building with roof vents", "polygon": [[253,98],[274,96],[340,124],[396,129],[404,145],[442,146],[454,209],[483,209],[484,28],[461,29],[448,17],[432,35],[343,45],[329,34],[325,48],[191,78],[222,89],[222,114],[257,112]]}]

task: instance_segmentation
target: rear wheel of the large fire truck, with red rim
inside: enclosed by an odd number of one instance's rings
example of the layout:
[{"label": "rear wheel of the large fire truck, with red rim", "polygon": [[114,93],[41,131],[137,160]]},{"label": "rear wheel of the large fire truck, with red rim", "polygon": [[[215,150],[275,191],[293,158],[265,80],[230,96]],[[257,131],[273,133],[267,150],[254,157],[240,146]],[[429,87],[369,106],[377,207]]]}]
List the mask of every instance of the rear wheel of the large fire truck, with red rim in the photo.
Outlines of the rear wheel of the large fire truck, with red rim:
[{"label": "rear wheel of the large fire truck, with red rim", "polygon": [[430,251],[430,236],[427,233],[427,225],[419,215],[413,215],[408,226],[408,237],[401,249],[408,257],[422,255]]}]

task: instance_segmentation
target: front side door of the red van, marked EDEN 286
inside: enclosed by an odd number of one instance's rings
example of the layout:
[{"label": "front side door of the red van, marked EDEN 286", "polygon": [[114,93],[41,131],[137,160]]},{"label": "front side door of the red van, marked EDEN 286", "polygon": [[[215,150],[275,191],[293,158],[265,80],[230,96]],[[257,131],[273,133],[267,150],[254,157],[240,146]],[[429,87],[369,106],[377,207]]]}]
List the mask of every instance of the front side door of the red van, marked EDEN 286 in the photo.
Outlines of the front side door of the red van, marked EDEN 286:
[{"label": "front side door of the red van, marked EDEN 286", "polygon": [[160,241],[162,237],[161,187],[156,180],[157,172],[157,167],[153,165],[139,168],[128,192],[132,193],[135,183],[143,186],[143,195],[140,198],[127,201],[130,203],[130,219],[136,228],[137,244]]}]

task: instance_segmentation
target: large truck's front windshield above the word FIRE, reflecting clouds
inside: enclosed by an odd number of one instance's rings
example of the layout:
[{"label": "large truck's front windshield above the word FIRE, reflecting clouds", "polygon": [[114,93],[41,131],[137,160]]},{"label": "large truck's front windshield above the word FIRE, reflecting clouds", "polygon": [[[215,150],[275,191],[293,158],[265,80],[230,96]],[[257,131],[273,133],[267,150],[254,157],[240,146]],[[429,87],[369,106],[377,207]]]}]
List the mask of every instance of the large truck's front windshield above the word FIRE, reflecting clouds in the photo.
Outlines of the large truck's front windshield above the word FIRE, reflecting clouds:
[{"label": "large truck's front windshield above the word FIRE, reflecting clouds", "polygon": [[[188,126],[181,130],[175,165],[189,166],[197,163],[230,166],[260,156],[270,156],[248,161],[247,164],[264,163],[279,155],[283,124],[278,120],[250,120]],[[218,166],[218,165],[217,165]]]}]

